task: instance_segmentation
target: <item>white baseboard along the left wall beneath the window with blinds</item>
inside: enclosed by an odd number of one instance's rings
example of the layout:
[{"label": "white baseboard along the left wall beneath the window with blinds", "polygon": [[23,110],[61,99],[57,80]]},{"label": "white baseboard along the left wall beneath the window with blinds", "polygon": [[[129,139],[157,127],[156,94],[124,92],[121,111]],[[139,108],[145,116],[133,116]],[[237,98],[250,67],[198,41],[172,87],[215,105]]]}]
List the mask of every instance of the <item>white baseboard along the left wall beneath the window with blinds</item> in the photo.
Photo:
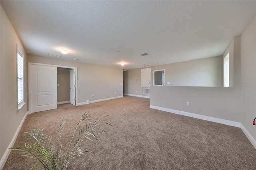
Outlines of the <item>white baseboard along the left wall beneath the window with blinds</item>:
[{"label": "white baseboard along the left wall beneath the window with blinds", "polygon": [[[13,138],[12,138],[12,140],[11,140],[9,146],[8,146],[8,148],[13,147],[13,145],[14,145],[14,143],[15,143],[15,140],[16,140],[16,138],[17,138],[19,132],[20,132],[20,129],[21,129],[21,127],[22,127],[22,125],[23,125],[23,123],[24,123],[24,121],[25,121],[27,115],[28,115],[28,112],[27,112],[27,113],[25,114],[25,116],[23,117],[23,119],[22,119],[22,121],[21,121],[19,127],[17,128],[17,130],[16,130],[16,132],[15,132],[15,134],[14,134],[14,136],[13,136]],[[10,152],[11,152],[10,149],[6,149],[6,151],[4,152],[4,155],[3,155],[3,157],[2,157],[1,160],[0,160],[0,170],[2,170],[2,169],[4,168],[4,164],[5,164],[6,160],[7,160],[7,158],[8,158],[8,156],[9,156]]]}]

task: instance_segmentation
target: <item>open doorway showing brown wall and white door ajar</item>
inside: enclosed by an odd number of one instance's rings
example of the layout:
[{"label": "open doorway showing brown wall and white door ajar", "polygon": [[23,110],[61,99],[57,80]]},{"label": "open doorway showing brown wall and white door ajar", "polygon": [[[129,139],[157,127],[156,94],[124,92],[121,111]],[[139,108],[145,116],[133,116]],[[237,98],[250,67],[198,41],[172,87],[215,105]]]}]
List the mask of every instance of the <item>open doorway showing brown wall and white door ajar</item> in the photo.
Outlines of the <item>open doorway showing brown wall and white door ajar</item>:
[{"label": "open doorway showing brown wall and white door ajar", "polygon": [[75,69],[57,67],[57,104],[76,105]]}]

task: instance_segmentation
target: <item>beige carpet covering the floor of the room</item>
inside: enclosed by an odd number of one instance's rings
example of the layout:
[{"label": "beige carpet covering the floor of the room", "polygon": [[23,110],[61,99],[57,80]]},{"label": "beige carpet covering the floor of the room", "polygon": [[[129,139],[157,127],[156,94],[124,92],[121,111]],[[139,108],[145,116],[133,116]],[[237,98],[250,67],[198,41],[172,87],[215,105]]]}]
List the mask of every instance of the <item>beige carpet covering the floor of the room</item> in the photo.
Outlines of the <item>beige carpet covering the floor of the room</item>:
[{"label": "beige carpet covering the floor of the room", "polygon": [[[57,137],[62,117],[67,140],[82,113],[109,115],[108,134],[90,145],[88,153],[72,170],[172,169],[252,170],[256,150],[240,128],[203,121],[149,108],[149,99],[126,96],[89,105],[59,105],[58,109],[28,115],[14,146],[23,146],[24,131],[44,128]],[[11,152],[4,170],[28,170],[25,157]],[[37,168],[41,169],[41,168]]]}]

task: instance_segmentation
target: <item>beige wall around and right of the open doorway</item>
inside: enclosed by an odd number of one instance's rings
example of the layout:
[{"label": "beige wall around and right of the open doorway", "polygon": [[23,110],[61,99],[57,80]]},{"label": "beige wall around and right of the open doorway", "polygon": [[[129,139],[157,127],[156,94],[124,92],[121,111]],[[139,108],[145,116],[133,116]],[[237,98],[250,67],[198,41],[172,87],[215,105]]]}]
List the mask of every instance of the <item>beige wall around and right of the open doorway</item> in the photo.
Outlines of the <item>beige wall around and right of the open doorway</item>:
[{"label": "beige wall around and right of the open doorway", "polygon": [[30,54],[28,62],[77,67],[78,104],[86,100],[94,101],[123,95],[122,69]]}]

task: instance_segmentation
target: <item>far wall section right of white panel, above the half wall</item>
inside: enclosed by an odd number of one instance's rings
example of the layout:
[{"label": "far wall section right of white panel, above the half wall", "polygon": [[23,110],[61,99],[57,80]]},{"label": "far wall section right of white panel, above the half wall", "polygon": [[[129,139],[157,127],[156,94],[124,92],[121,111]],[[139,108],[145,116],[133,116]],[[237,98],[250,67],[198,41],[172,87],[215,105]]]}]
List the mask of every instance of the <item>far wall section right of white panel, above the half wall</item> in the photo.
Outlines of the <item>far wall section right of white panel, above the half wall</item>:
[{"label": "far wall section right of white panel, above the half wall", "polygon": [[222,87],[222,56],[160,65],[152,71],[160,69],[165,69],[167,86]]}]

